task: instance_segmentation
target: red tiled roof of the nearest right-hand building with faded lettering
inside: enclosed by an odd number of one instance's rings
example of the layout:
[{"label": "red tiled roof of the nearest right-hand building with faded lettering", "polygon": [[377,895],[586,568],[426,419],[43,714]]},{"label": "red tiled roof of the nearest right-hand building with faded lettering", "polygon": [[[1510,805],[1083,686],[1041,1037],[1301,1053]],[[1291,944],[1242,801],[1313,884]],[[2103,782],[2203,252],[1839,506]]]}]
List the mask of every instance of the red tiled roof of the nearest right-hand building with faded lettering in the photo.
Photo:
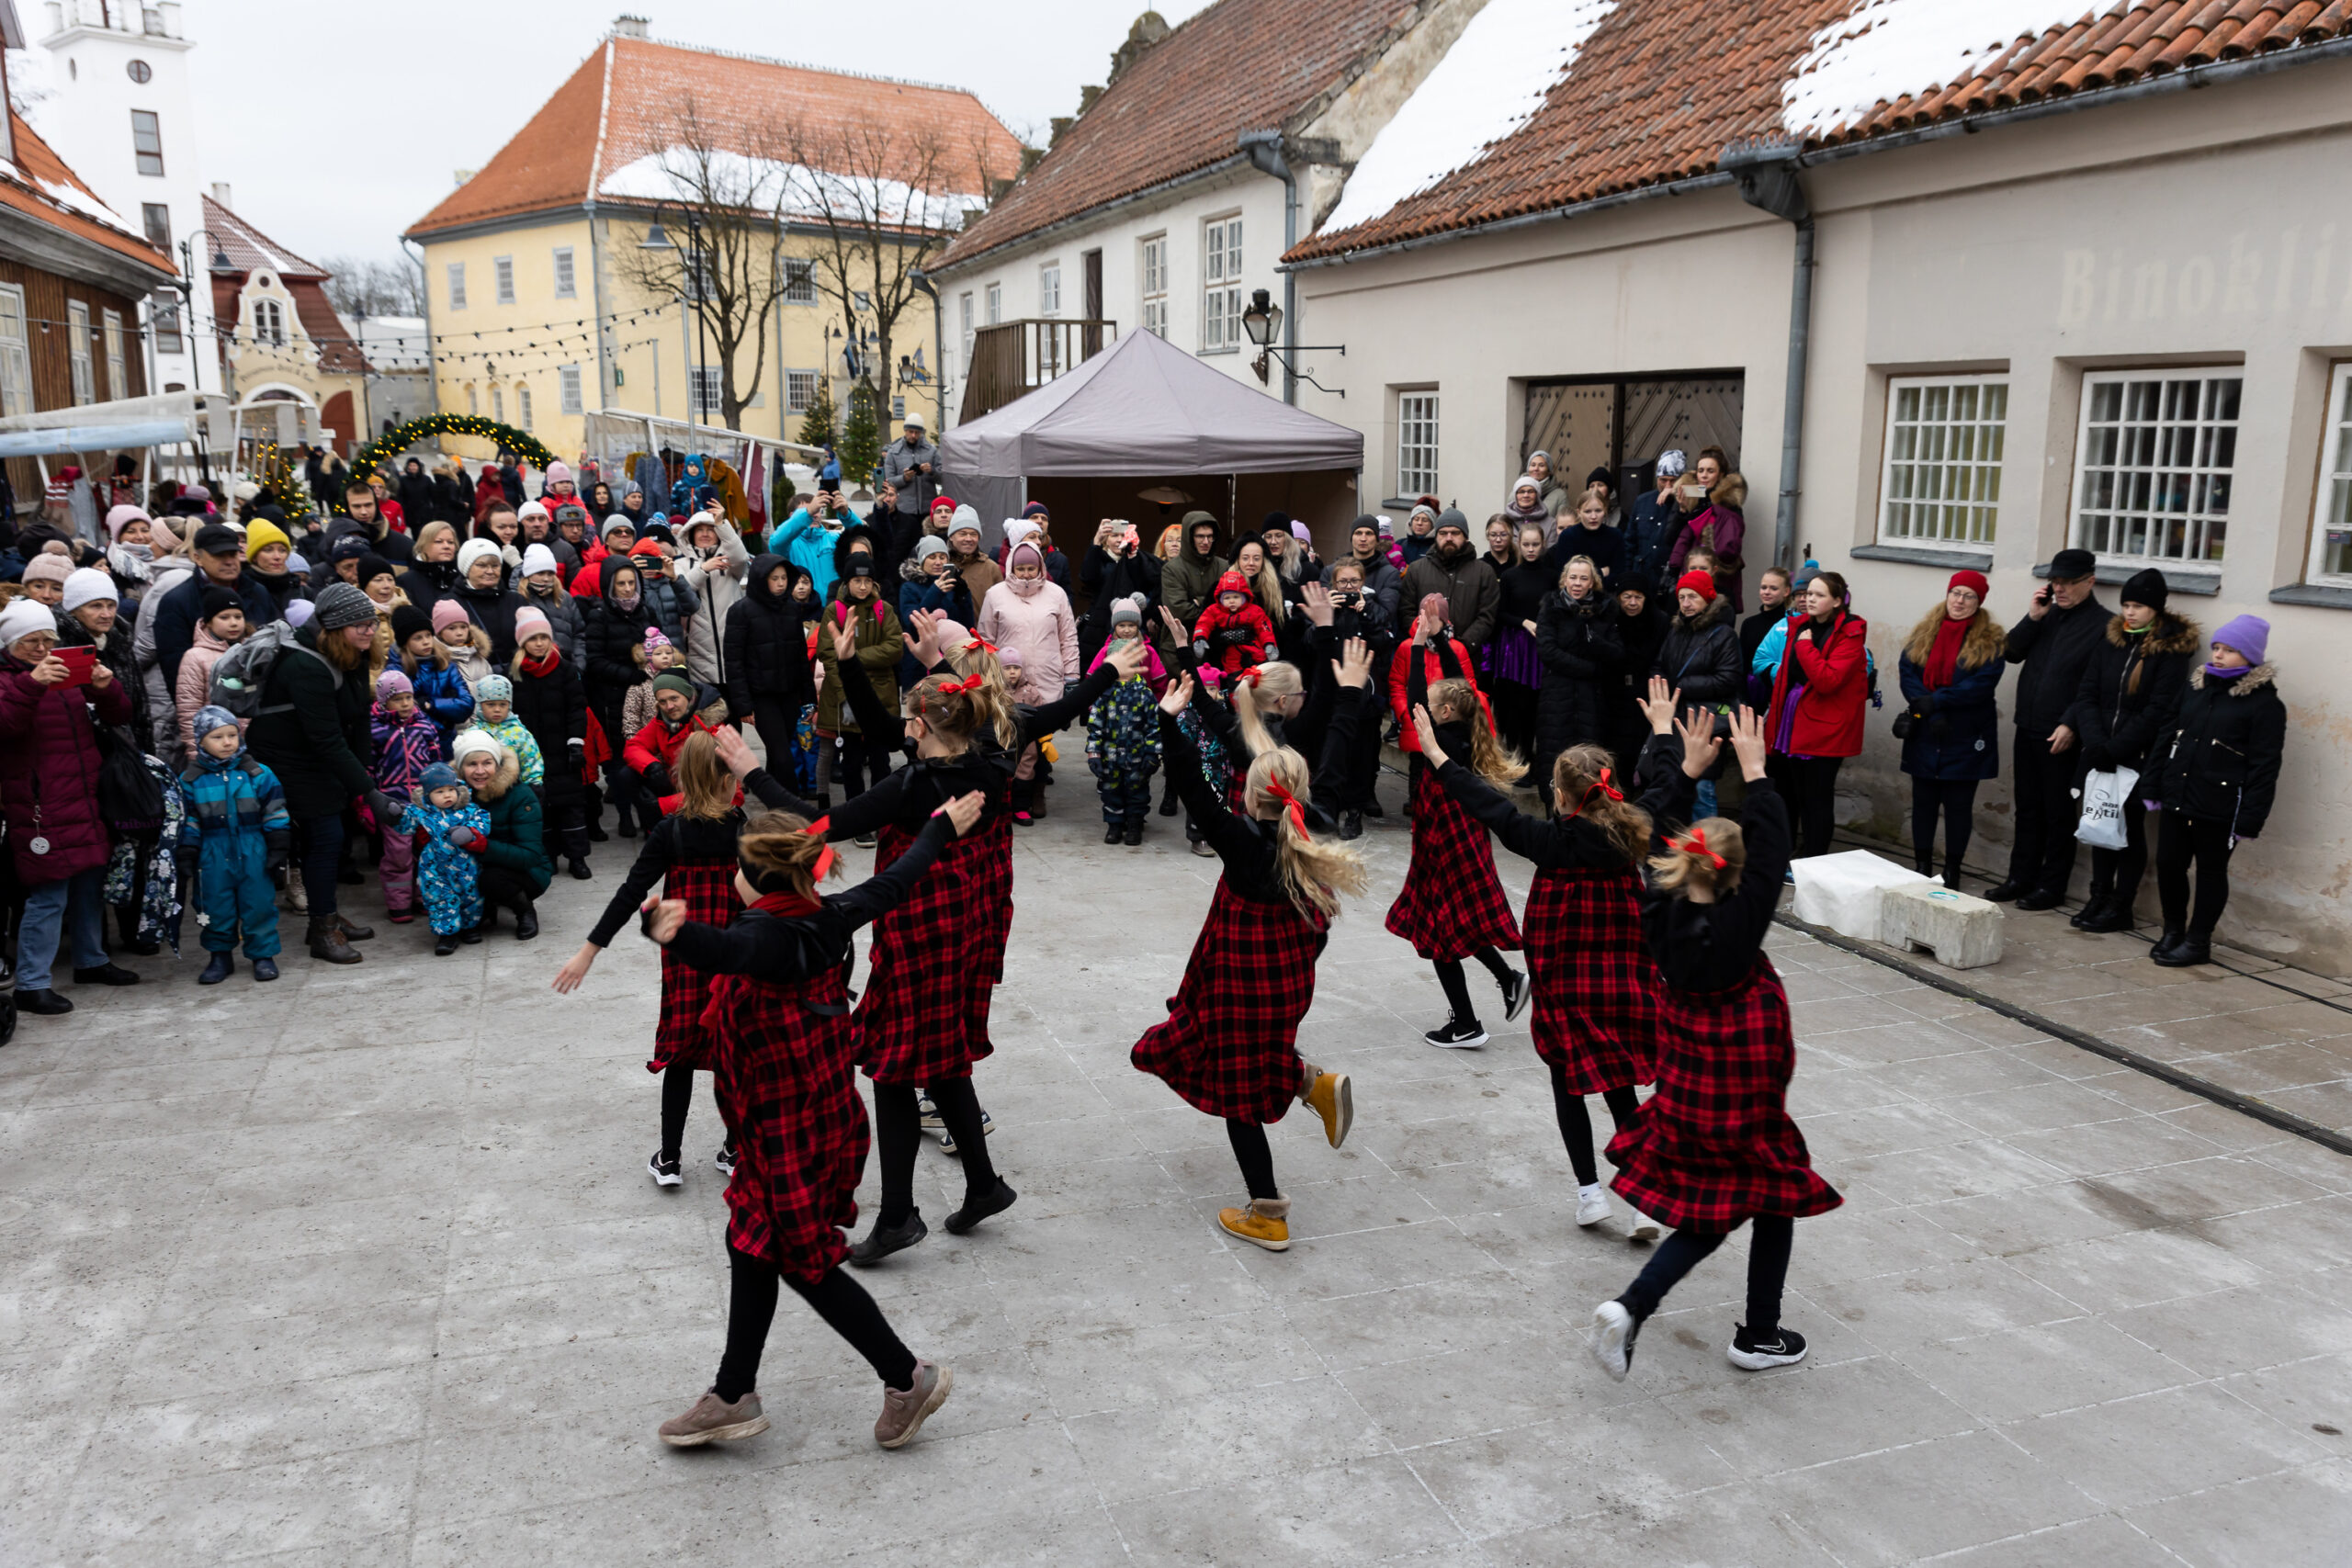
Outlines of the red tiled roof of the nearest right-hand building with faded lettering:
[{"label": "red tiled roof of the nearest right-hand building with faded lettering", "polygon": [[1740,139],[1867,141],[2352,35],[2352,0],[2051,0],[2046,21],[2016,38],[1955,40],[1969,5],[1621,0],[1526,125],[1376,219],[1310,235],[1289,259],[1710,174]]}]

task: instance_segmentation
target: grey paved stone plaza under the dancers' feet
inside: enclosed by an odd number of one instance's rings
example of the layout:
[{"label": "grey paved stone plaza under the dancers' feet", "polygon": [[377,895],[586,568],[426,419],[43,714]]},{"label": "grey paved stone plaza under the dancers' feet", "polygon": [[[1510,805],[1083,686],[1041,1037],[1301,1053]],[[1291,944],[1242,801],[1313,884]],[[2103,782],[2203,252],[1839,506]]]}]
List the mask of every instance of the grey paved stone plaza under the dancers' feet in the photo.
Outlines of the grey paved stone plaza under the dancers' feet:
[{"label": "grey paved stone plaza under the dancers' feet", "polygon": [[1797,1227],[1813,1359],[1724,1361],[1733,1241],[1613,1385],[1583,1328],[1642,1251],[1569,1222],[1524,1025],[1418,1044],[1402,823],[1303,1034],[1355,1135],[1277,1128],[1298,1241],[1268,1255],[1214,1227],[1223,1128],[1127,1065],[1216,865],[1054,799],[978,1077],[1021,1204],[946,1237],[927,1147],[931,1239],[861,1276],[957,1373],[913,1448],[873,1446],[875,1380],[790,1295],[776,1429],[654,1441],[717,1363],[720,1126],[701,1095],[684,1190],[647,1180],[642,938],[548,990],[607,844],[539,943],[435,959],[379,922],[362,969],[205,992],[141,961],[0,1051],[0,1561],[2352,1556],[2352,1159],[1783,931],[1792,1110],[1846,1194]]}]

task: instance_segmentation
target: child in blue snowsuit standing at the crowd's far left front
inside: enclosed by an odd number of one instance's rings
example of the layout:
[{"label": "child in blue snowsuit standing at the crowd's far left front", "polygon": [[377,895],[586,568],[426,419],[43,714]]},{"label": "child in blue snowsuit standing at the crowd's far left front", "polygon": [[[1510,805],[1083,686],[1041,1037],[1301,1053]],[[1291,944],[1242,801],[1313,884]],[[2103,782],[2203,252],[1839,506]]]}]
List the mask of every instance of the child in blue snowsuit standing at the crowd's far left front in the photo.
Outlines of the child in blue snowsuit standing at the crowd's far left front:
[{"label": "child in blue snowsuit standing at the crowd's far left front", "polygon": [[254,980],[278,978],[278,886],[294,818],[278,773],[245,755],[238,715],[207,703],[195,710],[195,755],[179,776],[186,813],[179,823],[179,863],[193,870],[205,929],[205,973],[219,985],[235,969],[238,938],[254,964]]}]

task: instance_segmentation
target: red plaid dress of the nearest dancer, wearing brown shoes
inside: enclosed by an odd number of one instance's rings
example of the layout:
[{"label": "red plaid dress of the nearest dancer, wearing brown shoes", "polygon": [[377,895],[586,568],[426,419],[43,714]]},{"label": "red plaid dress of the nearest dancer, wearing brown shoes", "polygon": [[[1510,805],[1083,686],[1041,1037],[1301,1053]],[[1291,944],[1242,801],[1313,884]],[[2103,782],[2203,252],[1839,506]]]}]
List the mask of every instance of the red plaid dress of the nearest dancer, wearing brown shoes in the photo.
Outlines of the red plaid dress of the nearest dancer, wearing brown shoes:
[{"label": "red plaid dress of the nearest dancer, wearing brown shoes", "polygon": [[804,1284],[849,1255],[842,1232],[858,1218],[851,1194],[873,1138],[847,1013],[807,1009],[847,997],[837,969],[795,985],[720,976],[703,1011],[736,1145],[727,1246]]}]

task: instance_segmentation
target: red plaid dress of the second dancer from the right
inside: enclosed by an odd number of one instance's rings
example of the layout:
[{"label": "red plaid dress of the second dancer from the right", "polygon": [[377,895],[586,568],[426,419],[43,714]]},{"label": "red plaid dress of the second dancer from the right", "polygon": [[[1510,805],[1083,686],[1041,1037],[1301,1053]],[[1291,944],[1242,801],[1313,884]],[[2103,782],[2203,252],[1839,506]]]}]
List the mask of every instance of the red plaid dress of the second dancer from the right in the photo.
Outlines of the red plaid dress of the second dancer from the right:
[{"label": "red plaid dress of the second dancer from the right", "polygon": [[1541,870],[1526,893],[1526,971],[1536,985],[1536,1056],[1569,1091],[1649,1084],[1658,1037],[1658,964],[1642,940],[1642,877]]}]

